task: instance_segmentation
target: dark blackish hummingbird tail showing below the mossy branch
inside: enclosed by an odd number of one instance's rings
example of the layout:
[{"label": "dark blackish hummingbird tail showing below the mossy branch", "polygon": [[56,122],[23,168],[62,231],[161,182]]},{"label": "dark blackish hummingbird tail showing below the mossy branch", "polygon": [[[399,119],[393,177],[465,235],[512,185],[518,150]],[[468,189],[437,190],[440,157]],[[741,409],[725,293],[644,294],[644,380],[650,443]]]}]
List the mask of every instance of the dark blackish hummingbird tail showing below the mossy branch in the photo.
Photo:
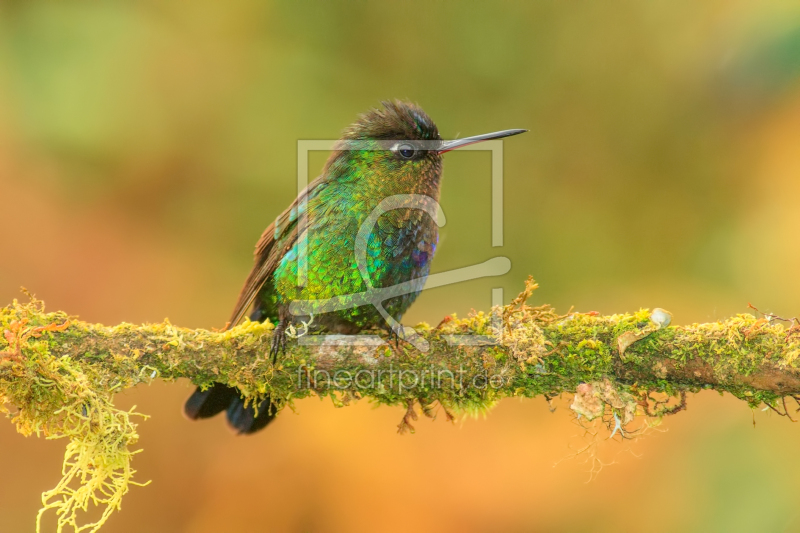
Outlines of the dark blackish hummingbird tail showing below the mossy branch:
[{"label": "dark blackish hummingbird tail showing below the mossy branch", "polygon": [[209,418],[226,411],[228,424],[240,435],[255,433],[264,429],[267,424],[275,419],[275,413],[270,412],[269,397],[262,400],[258,406],[256,416],[255,406],[245,407],[239,389],[228,387],[222,383],[214,383],[206,390],[197,390],[186,400],[183,412],[191,420]]}]

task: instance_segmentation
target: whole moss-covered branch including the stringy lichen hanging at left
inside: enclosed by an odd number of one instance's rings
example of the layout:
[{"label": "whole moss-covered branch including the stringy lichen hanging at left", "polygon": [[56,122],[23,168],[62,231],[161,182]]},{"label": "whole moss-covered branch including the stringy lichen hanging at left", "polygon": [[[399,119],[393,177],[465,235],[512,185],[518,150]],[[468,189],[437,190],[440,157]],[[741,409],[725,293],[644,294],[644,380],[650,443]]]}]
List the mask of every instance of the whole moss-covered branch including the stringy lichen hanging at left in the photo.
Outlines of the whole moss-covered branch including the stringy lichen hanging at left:
[{"label": "whole moss-covered branch including the stringy lichen hanging at left", "polygon": [[[400,432],[413,431],[415,404],[429,414],[438,403],[449,418],[504,397],[569,393],[579,416],[613,417],[624,427],[637,415],[677,412],[687,392],[705,388],[787,416],[785,399],[800,396],[795,320],[742,314],[669,326],[663,310],[559,315],[526,304],[535,288],[529,280],[516,300],[489,314],[419,325],[427,352],[374,338],[360,346],[343,339],[321,346],[290,342],[275,365],[268,355],[271,324],[246,322],[229,331],[169,322],[108,327],[47,313],[36,300],[14,301],[0,309],[0,400],[21,433],[69,439],[63,479],[43,495],[39,519],[55,509],[58,531],[96,531],[119,508],[132,483],[137,433],[135,413],[116,409],[113,395],[156,378],[226,383],[253,401],[269,396],[276,410],[310,395],[329,396],[336,405],[370,398],[406,408]],[[484,338],[448,343],[465,334]],[[104,514],[79,525],[78,511],[90,502]]]}]

